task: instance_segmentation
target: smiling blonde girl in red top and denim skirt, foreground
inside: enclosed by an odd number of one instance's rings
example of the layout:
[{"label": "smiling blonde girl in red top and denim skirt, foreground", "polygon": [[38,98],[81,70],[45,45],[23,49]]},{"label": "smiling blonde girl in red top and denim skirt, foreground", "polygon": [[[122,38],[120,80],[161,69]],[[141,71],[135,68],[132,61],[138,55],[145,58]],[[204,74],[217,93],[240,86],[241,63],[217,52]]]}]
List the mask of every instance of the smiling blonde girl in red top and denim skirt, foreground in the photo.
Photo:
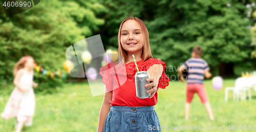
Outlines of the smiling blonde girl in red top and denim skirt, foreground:
[{"label": "smiling blonde girl in red top and denim skirt, foreground", "polygon": [[[123,57],[126,71],[115,72],[109,66],[116,65],[111,62],[100,68],[102,82],[105,84],[105,94],[99,113],[97,131],[161,131],[154,105],[157,103],[158,88],[165,89],[170,80],[165,74],[165,62],[154,59],[151,53],[150,39],[144,22],[137,17],[125,18],[118,32],[118,52]],[[148,98],[136,96],[135,74],[136,66],[132,55],[135,56],[139,71],[147,71],[151,87],[147,93]],[[118,86],[115,76],[126,76],[123,85]],[[154,127],[155,126],[155,127]],[[153,129],[153,127],[155,129]]]}]

